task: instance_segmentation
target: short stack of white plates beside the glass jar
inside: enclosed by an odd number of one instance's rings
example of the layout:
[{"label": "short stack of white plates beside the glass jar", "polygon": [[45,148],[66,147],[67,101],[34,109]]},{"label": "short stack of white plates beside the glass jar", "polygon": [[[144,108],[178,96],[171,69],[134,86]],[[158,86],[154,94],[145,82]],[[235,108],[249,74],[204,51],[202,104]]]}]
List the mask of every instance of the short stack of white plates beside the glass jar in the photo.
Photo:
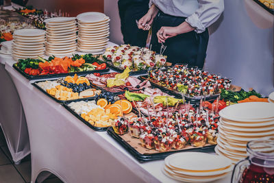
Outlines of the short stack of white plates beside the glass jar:
[{"label": "short stack of white plates beside the glass jar", "polygon": [[169,178],[184,182],[212,182],[232,171],[229,158],[201,152],[183,152],[164,159],[162,171]]}]

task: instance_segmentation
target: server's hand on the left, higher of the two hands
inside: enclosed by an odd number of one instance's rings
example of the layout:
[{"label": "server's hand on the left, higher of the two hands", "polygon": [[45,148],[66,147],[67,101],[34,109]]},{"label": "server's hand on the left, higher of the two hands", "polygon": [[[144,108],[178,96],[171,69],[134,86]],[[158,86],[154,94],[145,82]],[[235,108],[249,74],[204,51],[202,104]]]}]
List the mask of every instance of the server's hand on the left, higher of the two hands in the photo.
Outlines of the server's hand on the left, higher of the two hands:
[{"label": "server's hand on the left, higher of the two hands", "polygon": [[138,28],[143,30],[149,30],[153,19],[157,15],[158,11],[158,8],[154,4],[151,5],[151,8],[149,8],[147,14],[142,16],[142,18],[138,21]]}]

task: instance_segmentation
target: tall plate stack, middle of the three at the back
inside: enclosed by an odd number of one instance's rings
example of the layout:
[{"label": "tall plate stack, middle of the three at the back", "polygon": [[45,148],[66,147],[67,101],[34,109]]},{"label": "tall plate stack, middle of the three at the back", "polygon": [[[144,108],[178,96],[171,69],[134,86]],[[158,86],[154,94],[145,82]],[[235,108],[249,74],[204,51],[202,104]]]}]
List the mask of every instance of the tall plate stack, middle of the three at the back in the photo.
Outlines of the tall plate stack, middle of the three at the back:
[{"label": "tall plate stack, middle of the three at the back", "polygon": [[77,25],[75,17],[46,19],[46,55],[70,56],[77,49]]}]

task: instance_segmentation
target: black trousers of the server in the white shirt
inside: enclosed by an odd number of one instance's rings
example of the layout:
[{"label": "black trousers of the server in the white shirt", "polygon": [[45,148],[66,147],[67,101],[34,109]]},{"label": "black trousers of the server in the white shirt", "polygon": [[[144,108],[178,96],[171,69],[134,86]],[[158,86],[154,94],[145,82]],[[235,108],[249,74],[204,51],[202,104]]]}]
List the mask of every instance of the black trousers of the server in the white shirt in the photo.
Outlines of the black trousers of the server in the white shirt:
[{"label": "black trousers of the server in the white shirt", "polygon": [[[160,53],[161,44],[158,43],[156,34],[161,27],[175,27],[183,23],[185,19],[184,17],[170,16],[159,12],[152,26],[152,50]],[[198,66],[201,69],[206,58],[208,37],[208,29],[206,29],[201,34],[192,31],[168,38],[164,43],[167,47],[163,54],[167,56],[167,62],[173,64],[186,63],[190,66]]]}]

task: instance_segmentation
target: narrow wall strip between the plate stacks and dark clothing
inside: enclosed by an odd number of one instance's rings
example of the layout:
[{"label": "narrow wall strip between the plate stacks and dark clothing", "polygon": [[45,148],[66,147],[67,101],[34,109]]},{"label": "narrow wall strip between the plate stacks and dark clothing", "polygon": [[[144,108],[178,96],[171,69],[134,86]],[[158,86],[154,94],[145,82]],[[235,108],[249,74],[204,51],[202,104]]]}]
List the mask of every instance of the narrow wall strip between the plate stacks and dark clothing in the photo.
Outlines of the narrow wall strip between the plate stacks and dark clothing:
[{"label": "narrow wall strip between the plate stacks and dark clothing", "polygon": [[122,44],[123,35],[117,3],[118,0],[104,0],[104,12],[107,16],[110,16],[110,41]]}]

